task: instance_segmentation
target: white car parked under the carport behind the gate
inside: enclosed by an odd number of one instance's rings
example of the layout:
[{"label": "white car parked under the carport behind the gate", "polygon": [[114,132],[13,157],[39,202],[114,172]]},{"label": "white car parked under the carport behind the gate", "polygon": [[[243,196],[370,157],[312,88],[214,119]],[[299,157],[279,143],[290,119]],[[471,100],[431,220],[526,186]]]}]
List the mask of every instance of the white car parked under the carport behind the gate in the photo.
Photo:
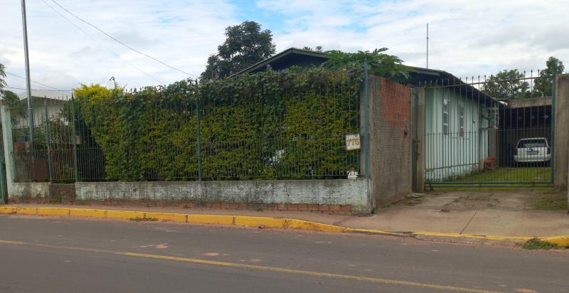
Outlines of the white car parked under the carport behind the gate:
[{"label": "white car parked under the carport behind the gate", "polygon": [[551,147],[549,147],[547,139],[545,137],[520,139],[514,153],[514,161],[518,164],[549,163],[551,161]]}]

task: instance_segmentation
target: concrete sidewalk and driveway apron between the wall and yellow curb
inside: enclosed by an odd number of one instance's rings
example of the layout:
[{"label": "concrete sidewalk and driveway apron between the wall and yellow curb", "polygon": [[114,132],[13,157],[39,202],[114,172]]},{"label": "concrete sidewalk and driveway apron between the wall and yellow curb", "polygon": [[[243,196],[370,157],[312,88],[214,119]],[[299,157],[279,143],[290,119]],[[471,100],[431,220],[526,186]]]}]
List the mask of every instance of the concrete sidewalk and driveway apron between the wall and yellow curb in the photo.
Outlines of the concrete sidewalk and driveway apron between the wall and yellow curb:
[{"label": "concrete sidewalk and driveway apron between the wall and yellow curb", "polygon": [[53,204],[14,204],[21,207],[103,208],[119,211],[186,213],[196,215],[245,215],[294,218],[346,228],[390,232],[432,232],[512,237],[569,235],[569,215],[565,211],[533,211],[527,200],[533,193],[455,192],[415,196],[368,216],[338,215],[295,211],[235,211],[211,208],[142,206],[65,206]]}]

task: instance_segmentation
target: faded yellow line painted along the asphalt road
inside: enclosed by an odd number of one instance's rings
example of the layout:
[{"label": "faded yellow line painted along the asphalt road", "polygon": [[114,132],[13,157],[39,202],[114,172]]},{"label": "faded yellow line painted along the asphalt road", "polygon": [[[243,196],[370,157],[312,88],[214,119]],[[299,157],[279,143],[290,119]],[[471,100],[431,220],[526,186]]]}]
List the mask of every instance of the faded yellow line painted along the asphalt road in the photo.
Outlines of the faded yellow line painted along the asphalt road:
[{"label": "faded yellow line painted along the asphalt road", "polygon": [[139,252],[123,252],[123,251],[114,251],[114,250],[102,250],[102,249],[88,248],[88,247],[71,247],[71,246],[41,244],[41,243],[26,243],[26,242],[11,241],[11,240],[0,240],[0,244],[28,246],[28,247],[43,247],[43,248],[50,248],[50,249],[55,249],[55,250],[75,250],[75,251],[84,251],[84,252],[105,253],[105,254],[110,254],[110,255],[124,255],[124,256],[130,256],[130,257],[143,257],[143,258],[151,258],[151,259],[156,259],[156,260],[174,260],[177,262],[191,262],[191,263],[196,263],[196,264],[201,264],[201,265],[213,265],[213,266],[218,266],[218,267],[238,267],[238,268],[244,268],[244,269],[248,269],[248,270],[260,270],[260,271],[267,271],[267,272],[282,272],[282,273],[294,274],[294,275],[307,275],[307,276],[312,276],[312,277],[327,277],[327,278],[332,278],[332,279],[349,279],[349,280],[360,281],[360,282],[394,284],[394,285],[408,286],[408,287],[421,287],[421,288],[425,288],[425,289],[437,289],[437,290],[441,290],[441,291],[454,291],[454,292],[467,292],[467,293],[502,293],[499,291],[470,289],[470,288],[466,288],[466,287],[454,287],[454,286],[446,286],[446,285],[410,282],[410,281],[403,281],[400,279],[381,279],[381,278],[363,277],[363,276],[356,276],[356,275],[334,274],[334,273],[329,273],[329,272],[316,272],[316,271],[309,271],[309,270],[294,270],[294,269],[287,269],[284,267],[267,267],[267,266],[262,266],[262,265],[248,265],[248,264],[237,263],[237,262],[219,262],[219,261],[215,261],[215,260],[202,260],[202,259],[191,258],[191,257],[174,257],[174,256],[168,256],[168,255],[153,255],[153,254],[139,253]]}]

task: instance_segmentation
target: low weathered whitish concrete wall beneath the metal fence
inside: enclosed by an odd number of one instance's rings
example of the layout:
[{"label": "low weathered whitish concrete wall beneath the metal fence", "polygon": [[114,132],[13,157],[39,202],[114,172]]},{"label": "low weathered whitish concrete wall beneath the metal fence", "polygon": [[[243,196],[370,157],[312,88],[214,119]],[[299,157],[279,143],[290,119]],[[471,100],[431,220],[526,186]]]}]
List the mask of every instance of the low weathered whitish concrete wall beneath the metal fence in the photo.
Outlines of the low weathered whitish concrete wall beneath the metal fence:
[{"label": "low weathered whitish concrete wall beneath the metal fence", "polygon": [[[73,186],[73,184],[14,183],[15,188],[9,191],[9,197],[69,196],[69,188],[63,185]],[[366,179],[78,182],[74,188],[75,198],[86,201],[150,200],[349,205],[353,213],[371,213]]]}]

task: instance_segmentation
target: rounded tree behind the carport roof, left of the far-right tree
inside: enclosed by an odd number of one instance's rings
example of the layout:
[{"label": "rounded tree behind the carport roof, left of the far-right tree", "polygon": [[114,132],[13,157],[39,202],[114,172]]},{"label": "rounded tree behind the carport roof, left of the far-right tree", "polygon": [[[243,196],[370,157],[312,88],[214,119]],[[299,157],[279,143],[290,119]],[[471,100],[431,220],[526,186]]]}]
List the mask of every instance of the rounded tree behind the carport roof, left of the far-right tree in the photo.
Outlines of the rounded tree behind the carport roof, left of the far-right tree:
[{"label": "rounded tree behind the carport roof, left of the far-right tree", "polygon": [[482,91],[497,99],[531,97],[529,84],[523,78],[524,74],[517,69],[504,69],[496,75],[490,75],[490,78],[482,86]]}]

